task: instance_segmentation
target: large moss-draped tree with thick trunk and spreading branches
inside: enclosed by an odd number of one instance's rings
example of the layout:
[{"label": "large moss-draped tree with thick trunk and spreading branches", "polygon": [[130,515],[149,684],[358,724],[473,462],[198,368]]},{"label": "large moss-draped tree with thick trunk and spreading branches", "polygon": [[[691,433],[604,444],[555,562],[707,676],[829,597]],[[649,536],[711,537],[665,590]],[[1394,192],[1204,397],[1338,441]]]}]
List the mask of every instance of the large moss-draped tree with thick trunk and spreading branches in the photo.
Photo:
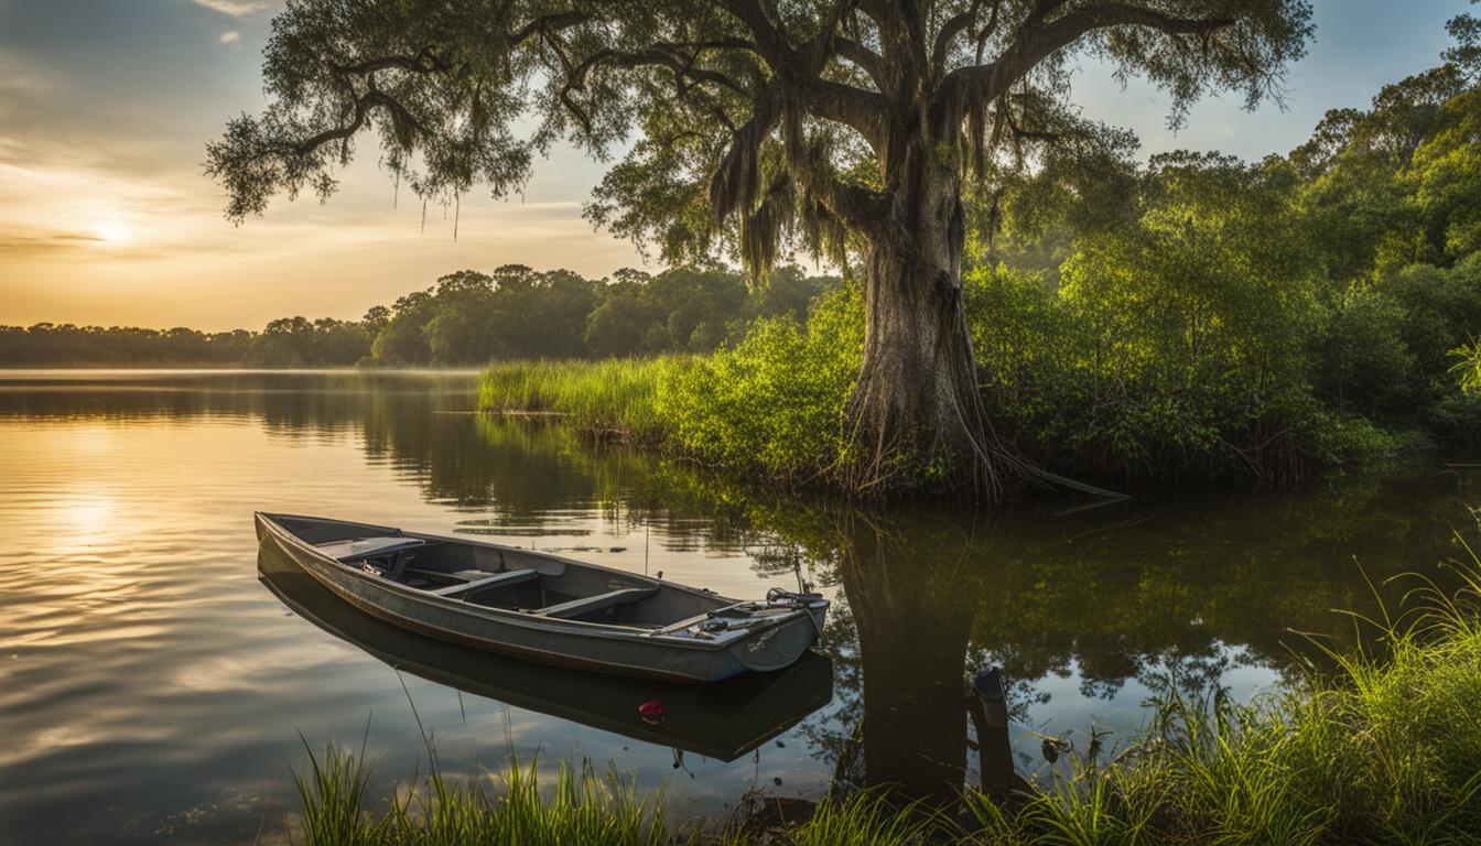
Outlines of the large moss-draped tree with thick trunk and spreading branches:
[{"label": "large moss-draped tree with thick trunk and spreading branches", "polygon": [[1161,86],[1176,121],[1208,90],[1278,93],[1309,34],[1306,0],[290,0],[271,104],[207,172],[240,221],[278,190],[330,194],[363,133],[434,200],[515,191],[560,138],[631,144],[588,216],[665,259],[862,265],[847,482],[994,495],[1025,468],[963,322],[967,181],[1084,132],[1075,56]]}]

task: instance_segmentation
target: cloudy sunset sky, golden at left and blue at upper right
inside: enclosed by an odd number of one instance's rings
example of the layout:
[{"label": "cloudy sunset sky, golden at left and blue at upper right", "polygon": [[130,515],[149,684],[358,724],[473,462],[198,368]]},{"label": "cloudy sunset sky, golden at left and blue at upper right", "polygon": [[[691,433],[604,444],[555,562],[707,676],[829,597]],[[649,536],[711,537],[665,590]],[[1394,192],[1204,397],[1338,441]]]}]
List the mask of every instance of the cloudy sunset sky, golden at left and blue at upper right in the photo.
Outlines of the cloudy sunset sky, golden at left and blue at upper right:
[{"label": "cloudy sunset sky, golden at left and blue at upper right", "polygon": [[[274,203],[233,227],[201,176],[204,142],[265,99],[259,62],[273,0],[0,0],[0,324],[99,323],[259,329],[281,316],[361,316],[459,270],[507,262],[601,277],[644,267],[592,231],[581,206],[603,166],[570,150],[538,166],[523,199],[462,201],[458,240],[440,207],[401,196],[373,153],[317,200]],[[1291,68],[1287,111],[1238,96],[1200,104],[1179,135],[1167,99],[1121,90],[1086,65],[1089,117],[1134,129],[1143,153],[1287,153],[1321,114],[1432,67],[1468,0],[1317,0],[1317,43]],[[658,270],[647,265],[647,270]]]}]

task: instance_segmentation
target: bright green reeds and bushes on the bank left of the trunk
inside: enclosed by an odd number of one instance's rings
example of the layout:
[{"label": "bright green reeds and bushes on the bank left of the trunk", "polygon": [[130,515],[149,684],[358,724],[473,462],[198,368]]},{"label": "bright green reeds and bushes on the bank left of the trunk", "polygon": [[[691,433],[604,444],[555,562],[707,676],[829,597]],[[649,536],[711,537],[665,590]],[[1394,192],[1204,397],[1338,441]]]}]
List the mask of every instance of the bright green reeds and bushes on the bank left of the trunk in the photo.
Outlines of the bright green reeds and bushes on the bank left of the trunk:
[{"label": "bright green reeds and bushes on the bank left of the trunk", "polygon": [[838,287],[818,299],[806,327],[761,319],[733,350],[711,356],[495,364],[478,404],[554,412],[592,436],[806,482],[838,459],[862,345],[862,296]]}]

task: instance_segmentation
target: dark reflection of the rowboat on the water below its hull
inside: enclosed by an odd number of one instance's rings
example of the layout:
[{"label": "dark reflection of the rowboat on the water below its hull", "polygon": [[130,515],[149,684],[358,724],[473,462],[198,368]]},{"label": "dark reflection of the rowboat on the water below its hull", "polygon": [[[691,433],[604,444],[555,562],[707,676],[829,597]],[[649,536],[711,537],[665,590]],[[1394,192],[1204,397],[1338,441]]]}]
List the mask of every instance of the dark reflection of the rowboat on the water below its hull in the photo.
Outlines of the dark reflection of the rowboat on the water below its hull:
[{"label": "dark reflection of the rowboat on the water below its hull", "polygon": [[[584,673],[468,649],[382,622],[342,602],[275,545],[258,550],[258,578],[283,604],[395,670],[585,726],[732,762],[832,701],[832,662],[807,652],[775,673],[680,685]],[[662,702],[662,717],[638,713]],[[652,720],[652,722],[650,722]]]}]

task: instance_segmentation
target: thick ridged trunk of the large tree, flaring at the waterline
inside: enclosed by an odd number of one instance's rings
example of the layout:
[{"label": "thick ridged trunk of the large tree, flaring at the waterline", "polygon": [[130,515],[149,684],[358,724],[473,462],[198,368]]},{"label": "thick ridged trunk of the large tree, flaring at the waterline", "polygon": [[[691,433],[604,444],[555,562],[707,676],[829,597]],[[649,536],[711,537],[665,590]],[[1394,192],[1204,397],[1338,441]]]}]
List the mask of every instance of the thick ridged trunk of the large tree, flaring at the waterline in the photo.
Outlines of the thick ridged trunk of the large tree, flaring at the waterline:
[{"label": "thick ridged trunk of the large tree, flaring at the waterline", "polygon": [[967,489],[998,499],[1012,459],[982,409],[963,310],[960,176],[939,161],[917,170],[897,190],[908,218],[868,250],[847,482],[856,490]]}]

